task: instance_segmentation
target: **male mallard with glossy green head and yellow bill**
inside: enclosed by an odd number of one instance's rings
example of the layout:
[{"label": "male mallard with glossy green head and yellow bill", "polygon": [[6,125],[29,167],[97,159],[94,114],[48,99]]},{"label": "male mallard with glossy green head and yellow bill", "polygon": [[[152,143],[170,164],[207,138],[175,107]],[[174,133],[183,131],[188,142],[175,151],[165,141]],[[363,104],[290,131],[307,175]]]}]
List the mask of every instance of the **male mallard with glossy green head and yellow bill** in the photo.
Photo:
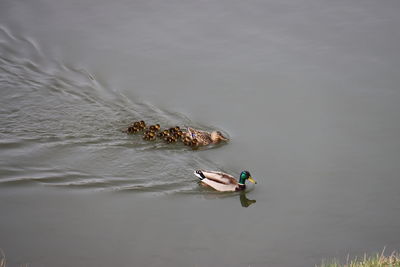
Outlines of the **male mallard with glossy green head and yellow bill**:
[{"label": "male mallard with glossy green head and yellow bill", "polygon": [[253,184],[257,183],[253,178],[251,178],[248,171],[242,171],[240,173],[239,182],[232,175],[223,172],[197,170],[194,174],[199,177],[203,184],[211,186],[220,192],[244,190],[246,188],[246,180],[249,180]]}]

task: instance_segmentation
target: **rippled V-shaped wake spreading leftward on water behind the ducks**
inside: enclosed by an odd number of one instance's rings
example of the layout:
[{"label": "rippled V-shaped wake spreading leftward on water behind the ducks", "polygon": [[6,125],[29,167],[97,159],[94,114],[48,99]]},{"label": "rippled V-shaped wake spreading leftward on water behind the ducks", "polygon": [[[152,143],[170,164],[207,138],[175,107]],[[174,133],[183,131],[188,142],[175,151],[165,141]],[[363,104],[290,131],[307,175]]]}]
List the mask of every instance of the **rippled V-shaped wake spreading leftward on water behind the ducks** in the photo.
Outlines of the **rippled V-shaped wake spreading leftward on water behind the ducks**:
[{"label": "rippled V-shaped wake spreading leftward on water behind the ducks", "polygon": [[191,125],[183,114],[111,90],[0,26],[0,186],[196,192],[193,169],[218,166],[183,145],[147,142],[134,120]]}]

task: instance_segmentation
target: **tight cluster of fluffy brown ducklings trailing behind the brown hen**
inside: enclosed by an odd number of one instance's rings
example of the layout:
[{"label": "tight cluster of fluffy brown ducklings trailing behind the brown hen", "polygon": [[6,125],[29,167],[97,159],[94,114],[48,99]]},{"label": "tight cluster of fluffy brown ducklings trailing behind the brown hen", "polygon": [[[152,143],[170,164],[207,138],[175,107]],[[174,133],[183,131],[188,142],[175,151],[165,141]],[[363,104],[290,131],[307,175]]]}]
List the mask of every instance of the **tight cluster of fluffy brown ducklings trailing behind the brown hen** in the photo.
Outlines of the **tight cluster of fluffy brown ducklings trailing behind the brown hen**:
[{"label": "tight cluster of fluffy brown ducklings trailing behind the brown hen", "polygon": [[125,132],[128,134],[136,134],[143,132],[143,140],[154,141],[157,138],[164,140],[167,144],[176,143],[182,141],[186,146],[196,148],[198,141],[189,137],[186,131],[183,131],[179,126],[171,127],[169,129],[160,130],[160,124],[154,124],[146,126],[146,123],[142,121],[135,121],[132,123]]}]

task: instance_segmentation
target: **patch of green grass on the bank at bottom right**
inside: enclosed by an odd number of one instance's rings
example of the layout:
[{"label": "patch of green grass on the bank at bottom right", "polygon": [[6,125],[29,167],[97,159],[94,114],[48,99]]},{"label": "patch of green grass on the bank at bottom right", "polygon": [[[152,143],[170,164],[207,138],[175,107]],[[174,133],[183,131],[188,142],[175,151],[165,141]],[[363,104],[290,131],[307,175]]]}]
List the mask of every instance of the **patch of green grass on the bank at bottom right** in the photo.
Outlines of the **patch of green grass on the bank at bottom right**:
[{"label": "patch of green grass on the bank at bottom right", "polygon": [[[347,258],[345,264],[341,264],[337,260],[323,261],[319,267],[400,267],[400,254],[393,252],[390,256],[376,254],[375,256],[367,256],[364,254],[363,258],[355,258],[350,260]],[[317,267],[317,266],[316,266]]]}]

